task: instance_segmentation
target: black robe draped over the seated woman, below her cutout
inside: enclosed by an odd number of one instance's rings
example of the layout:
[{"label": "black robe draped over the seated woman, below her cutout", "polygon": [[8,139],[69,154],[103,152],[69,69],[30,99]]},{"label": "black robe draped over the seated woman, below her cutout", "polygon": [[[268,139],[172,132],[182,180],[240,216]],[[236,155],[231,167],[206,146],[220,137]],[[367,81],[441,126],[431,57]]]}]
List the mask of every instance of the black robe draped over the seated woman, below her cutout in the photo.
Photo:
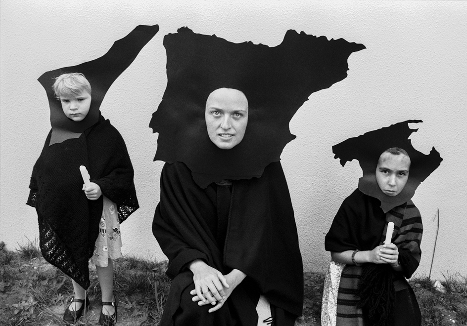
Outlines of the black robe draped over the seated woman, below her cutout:
[{"label": "black robe draped over the seated woman, below her cutout", "polygon": [[[218,187],[227,186],[212,183],[200,188],[184,163],[164,165],[152,231],[169,258],[167,275],[173,284],[161,325],[174,325],[174,316],[183,313],[182,297],[186,301],[192,297],[193,274],[187,264],[195,259],[224,275],[235,268],[247,275],[224,306],[209,314],[213,325],[256,325],[260,294],[270,301],[275,325],[285,325],[280,324],[283,320],[292,320],[293,325],[302,313],[303,266],[280,163],[269,164],[260,178],[234,180],[228,210]],[[226,225],[223,244],[222,225]],[[198,307],[194,302],[187,306],[199,318],[190,320],[190,325],[202,325],[205,319],[200,315],[207,316],[210,306]]]}]

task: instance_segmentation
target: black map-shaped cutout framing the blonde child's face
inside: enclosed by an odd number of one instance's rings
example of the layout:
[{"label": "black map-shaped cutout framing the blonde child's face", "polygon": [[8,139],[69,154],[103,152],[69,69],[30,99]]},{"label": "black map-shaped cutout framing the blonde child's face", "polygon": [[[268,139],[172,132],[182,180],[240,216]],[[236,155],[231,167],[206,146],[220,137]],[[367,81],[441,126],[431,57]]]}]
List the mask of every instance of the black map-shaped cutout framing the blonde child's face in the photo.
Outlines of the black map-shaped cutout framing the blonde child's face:
[{"label": "black map-shaped cutout framing the blonde child's face", "polygon": [[[50,108],[52,135],[49,145],[61,143],[69,138],[78,138],[84,130],[97,122],[100,105],[112,83],[131,65],[140,50],[158,31],[158,25],[139,25],[126,37],[115,41],[100,58],[77,66],[48,71],[39,77],[38,81],[46,90]],[[91,84],[91,107],[86,118],[80,122],[74,122],[65,116],[61,103],[55,98],[52,90],[54,79],[64,73],[82,73]]]}]

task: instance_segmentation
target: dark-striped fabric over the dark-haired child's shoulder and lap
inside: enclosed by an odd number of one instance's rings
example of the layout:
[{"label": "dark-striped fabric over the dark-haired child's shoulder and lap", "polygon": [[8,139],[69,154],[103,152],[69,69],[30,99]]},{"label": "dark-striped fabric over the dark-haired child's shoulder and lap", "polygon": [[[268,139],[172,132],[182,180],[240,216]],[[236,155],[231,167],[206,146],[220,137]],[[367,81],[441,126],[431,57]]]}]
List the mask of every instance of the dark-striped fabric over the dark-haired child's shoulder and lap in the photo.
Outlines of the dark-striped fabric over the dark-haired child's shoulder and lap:
[{"label": "dark-striped fabric over the dark-haired child's shoulder and lap", "polygon": [[[403,274],[409,278],[420,262],[420,242],[423,230],[420,212],[412,201],[388,211],[380,244],[384,242],[388,222],[394,222],[392,243],[396,244],[399,249],[399,261],[404,268]],[[356,293],[363,269],[368,265],[346,265],[344,267],[337,295],[337,326],[364,326],[362,309],[357,308],[360,298]],[[407,286],[410,285],[406,282],[397,282],[396,290],[407,288]]]}]

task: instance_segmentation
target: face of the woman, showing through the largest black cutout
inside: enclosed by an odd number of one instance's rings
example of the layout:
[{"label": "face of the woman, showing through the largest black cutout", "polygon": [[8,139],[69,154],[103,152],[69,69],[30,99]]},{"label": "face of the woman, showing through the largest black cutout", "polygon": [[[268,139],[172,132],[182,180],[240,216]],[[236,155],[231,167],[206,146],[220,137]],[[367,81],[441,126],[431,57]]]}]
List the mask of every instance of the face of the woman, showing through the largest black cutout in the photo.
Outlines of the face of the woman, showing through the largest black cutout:
[{"label": "face of the woman, showing through the largest black cutout", "polygon": [[220,149],[232,149],[245,135],[248,100],[237,89],[216,89],[206,100],[204,117],[211,141]]}]

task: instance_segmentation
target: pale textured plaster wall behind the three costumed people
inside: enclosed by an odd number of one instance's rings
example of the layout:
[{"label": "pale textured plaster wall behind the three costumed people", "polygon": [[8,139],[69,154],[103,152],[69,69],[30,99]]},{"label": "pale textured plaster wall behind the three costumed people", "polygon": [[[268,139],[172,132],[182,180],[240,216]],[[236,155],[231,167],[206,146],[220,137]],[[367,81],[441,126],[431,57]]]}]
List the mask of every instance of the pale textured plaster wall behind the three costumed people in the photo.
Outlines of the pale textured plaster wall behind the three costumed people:
[{"label": "pale textured plaster wall behind the three costumed people", "polygon": [[[161,162],[148,123],[165,89],[164,35],[188,26],[233,42],[275,46],[288,29],[344,38],[367,49],[349,58],[347,79],[310,96],[290,123],[297,139],[281,156],[306,270],[325,269],[324,237],[342,200],[357,186],[357,162],[344,168],[331,146],[392,123],[420,119],[415,148],[434,146],[441,166],[418,188],[424,221],[419,273],[467,275],[467,3],[465,1],[1,1],[0,240],[9,248],[38,238],[25,205],[32,167],[50,128],[45,71],[104,54],[139,24],[159,33],[107,93],[104,117],[120,130],[134,163],[141,208],[122,225],[124,253],[164,259],[151,233]],[[274,132],[274,130],[271,130]]]}]

